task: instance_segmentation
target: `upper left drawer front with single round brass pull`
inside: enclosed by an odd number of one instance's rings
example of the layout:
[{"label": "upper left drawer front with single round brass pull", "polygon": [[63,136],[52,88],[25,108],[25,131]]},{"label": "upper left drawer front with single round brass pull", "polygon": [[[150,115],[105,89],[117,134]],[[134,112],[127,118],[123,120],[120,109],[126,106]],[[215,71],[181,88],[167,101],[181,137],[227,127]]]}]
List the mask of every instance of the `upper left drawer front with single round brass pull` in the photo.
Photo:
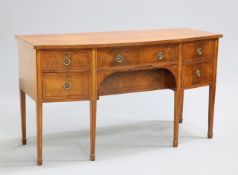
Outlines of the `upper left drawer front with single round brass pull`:
[{"label": "upper left drawer front with single round brass pull", "polygon": [[43,71],[89,70],[89,51],[43,52],[41,58]]}]

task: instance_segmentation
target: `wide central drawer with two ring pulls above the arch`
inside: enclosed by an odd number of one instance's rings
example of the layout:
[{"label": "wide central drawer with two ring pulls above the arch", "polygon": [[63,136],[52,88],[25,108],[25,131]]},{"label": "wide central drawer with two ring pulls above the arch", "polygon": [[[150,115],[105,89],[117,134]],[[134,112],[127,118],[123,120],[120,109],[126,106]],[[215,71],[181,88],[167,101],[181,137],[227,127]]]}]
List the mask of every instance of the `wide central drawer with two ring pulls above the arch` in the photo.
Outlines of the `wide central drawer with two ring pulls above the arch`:
[{"label": "wide central drawer with two ring pulls above the arch", "polygon": [[163,64],[178,59],[178,45],[153,45],[138,47],[98,49],[98,68]]}]

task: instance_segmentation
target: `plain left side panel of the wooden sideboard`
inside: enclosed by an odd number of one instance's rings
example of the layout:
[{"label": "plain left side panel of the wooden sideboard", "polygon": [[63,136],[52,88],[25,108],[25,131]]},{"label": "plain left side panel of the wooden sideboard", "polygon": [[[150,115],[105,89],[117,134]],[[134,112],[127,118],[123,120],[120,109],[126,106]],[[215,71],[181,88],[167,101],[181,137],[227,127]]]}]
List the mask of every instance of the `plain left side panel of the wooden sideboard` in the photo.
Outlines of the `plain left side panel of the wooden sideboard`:
[{"label": "plain left side panel of the wooden sideboard", "polygon": [[20,88],[36,100],[36,51],[29,44],[18,41],[18,57]]}]

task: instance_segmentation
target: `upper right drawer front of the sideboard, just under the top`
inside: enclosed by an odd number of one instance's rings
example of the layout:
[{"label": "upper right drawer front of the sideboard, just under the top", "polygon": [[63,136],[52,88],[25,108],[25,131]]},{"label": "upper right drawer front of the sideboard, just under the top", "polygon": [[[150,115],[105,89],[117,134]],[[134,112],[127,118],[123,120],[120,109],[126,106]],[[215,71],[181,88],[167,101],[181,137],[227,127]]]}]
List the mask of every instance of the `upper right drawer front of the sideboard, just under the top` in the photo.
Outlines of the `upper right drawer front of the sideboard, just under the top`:
[{"label": "upper right drawer front of the sideboard, just under the top", "polygon": [[210,60],[213,58],[215,51],[215,41],[197,41],[185,43],[183,45],[183,59],[185,61],[189,60]]}]

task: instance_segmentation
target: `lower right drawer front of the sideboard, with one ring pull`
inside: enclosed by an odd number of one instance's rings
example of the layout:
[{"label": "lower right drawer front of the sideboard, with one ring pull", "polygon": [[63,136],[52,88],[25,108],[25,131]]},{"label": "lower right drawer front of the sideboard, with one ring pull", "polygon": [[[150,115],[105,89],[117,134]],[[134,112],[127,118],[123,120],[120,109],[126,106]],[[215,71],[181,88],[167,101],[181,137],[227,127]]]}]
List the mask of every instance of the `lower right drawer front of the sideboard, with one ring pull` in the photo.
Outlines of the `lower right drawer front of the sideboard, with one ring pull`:
[{"label": "lower right drawer front of the sideboard, with one ring pull", "polygon": [[212,64],[209,61],[183,65],[185,88],[209,84],[212,80]]}]

